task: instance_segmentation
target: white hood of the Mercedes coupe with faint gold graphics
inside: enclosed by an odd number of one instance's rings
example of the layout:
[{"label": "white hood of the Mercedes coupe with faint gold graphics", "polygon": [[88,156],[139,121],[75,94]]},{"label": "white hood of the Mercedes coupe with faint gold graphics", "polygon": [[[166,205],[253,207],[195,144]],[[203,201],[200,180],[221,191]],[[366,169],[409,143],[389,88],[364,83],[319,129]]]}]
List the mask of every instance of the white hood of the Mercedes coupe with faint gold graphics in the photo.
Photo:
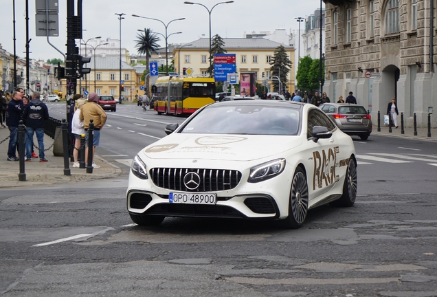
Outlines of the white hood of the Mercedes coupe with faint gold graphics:
[{"label": "white hood of the Mercedes coupe with faint gold graphics", "polygon": [[249,161],[277,155],[302,143],[300,136],[174,133],[146,146],[150,159]]}]

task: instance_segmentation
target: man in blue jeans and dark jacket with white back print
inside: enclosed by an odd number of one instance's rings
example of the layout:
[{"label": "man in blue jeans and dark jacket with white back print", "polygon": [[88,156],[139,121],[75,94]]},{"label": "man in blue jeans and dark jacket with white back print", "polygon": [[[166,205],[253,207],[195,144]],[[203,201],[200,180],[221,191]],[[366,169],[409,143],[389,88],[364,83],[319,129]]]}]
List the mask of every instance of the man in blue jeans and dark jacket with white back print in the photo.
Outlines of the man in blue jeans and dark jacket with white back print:
[{"label": "man in blue jeans and dark jacket with white back print", "polygon": [[44,126],[45,121],[49,119],[49,109],[43,101],[40,100],[41,95],[38,91],[34,91],[32,101],[30,101],[23,111],[23,121],[26,125],[26,162],[32,162],[32,146],[34,133],[38,140],[39,162],[48,162],[44,154]]}]

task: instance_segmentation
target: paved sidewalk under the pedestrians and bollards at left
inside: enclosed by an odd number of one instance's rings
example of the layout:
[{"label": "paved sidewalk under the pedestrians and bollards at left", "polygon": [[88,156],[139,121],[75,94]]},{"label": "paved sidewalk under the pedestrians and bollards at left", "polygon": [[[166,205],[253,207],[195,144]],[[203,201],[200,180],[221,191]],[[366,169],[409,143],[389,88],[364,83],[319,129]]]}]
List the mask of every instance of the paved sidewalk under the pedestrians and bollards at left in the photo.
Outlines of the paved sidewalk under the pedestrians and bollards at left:
[{"label": "paved sidewalk under the pedestrians and bollards at left", "polygon": [[[0,129],[0,142],[9,136],[9,129]],[[36,137],[35,141],[36,141]],[[44,146],[48,148],[54,140],[44,135]],[[93,173],[87,173],[86,168],[71,168],[72,162],[69,163],[71,175],[64,175],[64,158],[53,155],[52,149],[45,151],[47,163],[40,163],[39,157],[32,158],[32,162],[25,162],[26,181],[19,181],[20,162],[8,161],[9,139],[0,144],[0,188],[18,187],[18,186],[36,186],[49,184],[64,184],[69,182],[87,181],[92,179],[104,179],[107,177],[116,177],[120,174],[120,168],[102,159],[98,155],[94,156],[94,162],[100,168],[93,168]],[[38,155],[38,150],[35,150]]]}]

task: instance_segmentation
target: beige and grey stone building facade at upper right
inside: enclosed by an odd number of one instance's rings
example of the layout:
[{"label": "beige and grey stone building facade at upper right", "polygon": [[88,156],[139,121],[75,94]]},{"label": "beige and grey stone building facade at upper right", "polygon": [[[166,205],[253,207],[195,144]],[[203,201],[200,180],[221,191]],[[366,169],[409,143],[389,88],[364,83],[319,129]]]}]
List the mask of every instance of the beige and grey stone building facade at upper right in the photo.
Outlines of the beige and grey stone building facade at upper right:
[{"label": "beige and grey stone building facade at upper right", "polygon": [[324,0],[328,96],[352,91],[375,122],[396,98],[405,126],[416,114],[417,126],[426,127],[428,108],[437,109],[435,1]]}]

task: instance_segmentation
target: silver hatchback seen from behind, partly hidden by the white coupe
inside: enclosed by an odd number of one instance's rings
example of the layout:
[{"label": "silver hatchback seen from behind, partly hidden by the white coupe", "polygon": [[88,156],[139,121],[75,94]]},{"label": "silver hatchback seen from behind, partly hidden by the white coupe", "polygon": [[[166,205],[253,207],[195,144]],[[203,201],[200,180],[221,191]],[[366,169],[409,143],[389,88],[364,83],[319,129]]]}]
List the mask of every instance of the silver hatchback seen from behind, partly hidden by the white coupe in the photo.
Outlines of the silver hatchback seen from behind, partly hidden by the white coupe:
[{"label": "silver hatchback seen from behind, partly hidden by the white coupe", "polygon": [[357,135],[361,140],[367,140],[372,133],[372,118],[361,105],[324,103],[319,108],[333,118],[341,131],[350,136]]}]

